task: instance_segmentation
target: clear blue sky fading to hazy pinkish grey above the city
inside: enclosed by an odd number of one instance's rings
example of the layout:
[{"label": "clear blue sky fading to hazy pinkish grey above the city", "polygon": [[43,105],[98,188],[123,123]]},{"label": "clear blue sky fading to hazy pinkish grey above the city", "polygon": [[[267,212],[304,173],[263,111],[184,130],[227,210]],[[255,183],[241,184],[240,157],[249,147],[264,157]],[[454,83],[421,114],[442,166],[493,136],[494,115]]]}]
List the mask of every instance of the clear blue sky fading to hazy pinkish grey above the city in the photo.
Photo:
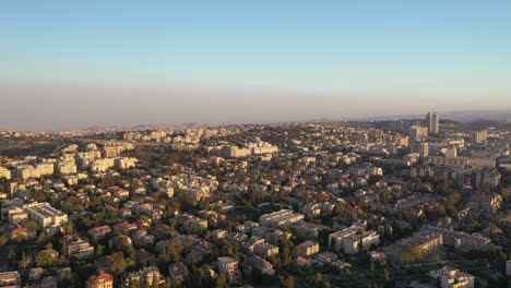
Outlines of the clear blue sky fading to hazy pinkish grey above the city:
[{"label": "clear blue sky fading to hazy pinkish grey above the city", "polygon": [[0,1],[0,130],[511,109],[511,1]]}]

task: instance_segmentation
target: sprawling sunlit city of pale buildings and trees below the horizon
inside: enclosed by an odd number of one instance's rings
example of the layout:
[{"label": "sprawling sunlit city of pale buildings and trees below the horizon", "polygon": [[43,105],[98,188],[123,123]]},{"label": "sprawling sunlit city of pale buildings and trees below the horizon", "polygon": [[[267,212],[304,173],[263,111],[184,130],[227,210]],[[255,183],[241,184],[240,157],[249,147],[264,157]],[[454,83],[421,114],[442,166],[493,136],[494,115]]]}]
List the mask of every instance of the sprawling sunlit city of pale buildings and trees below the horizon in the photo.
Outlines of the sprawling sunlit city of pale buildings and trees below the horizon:
[{"label": "sprawling sunlit city of pale buildings and trees below the horizon", "polygon": [[508,287],[510,131],[3,131],[0,287]]}]

